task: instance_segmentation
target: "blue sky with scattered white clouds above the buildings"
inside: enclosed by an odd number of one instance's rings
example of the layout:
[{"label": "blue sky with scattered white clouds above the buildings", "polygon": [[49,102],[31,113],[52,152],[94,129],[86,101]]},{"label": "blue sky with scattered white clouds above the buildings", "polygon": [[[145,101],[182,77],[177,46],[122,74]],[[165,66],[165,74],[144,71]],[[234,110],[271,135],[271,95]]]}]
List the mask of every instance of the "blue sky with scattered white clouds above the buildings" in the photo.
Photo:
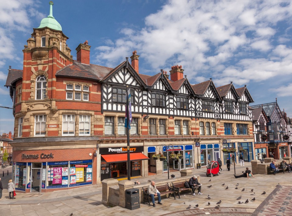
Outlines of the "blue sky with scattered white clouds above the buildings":
[{"label": "blue sky with scattered white clouds above the buildings", "polygon": [[[23,69],[23,46],[49,15],[49,1],[0,0],[0,106],[9,66]],[[88,40],[90,63],[116,67],[137,50],[139,73],[182,65],[191,84],[247,85],[254,103],[277,102],[292,117],[292,2],[289,0],[54,0],[53,16],[75,48]],[[169,73],[168,73],[169,74]],[[14,127],[0,108],[0,133]]]}]

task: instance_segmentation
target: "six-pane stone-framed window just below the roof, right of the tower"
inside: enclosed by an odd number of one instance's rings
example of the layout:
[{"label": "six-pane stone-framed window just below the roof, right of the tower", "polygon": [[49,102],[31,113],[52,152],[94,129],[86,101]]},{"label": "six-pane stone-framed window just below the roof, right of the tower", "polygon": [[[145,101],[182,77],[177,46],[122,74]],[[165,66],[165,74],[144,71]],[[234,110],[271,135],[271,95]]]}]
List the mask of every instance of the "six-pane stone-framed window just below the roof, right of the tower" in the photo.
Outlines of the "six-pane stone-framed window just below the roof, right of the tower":
[{"label": "six-pane stone-framed window just below the roof, right of the tower", "polygon": [[88,91],[89,87],[87,85],[67,84],[66,100],[89,101],[89,93],[87,93]]}]

